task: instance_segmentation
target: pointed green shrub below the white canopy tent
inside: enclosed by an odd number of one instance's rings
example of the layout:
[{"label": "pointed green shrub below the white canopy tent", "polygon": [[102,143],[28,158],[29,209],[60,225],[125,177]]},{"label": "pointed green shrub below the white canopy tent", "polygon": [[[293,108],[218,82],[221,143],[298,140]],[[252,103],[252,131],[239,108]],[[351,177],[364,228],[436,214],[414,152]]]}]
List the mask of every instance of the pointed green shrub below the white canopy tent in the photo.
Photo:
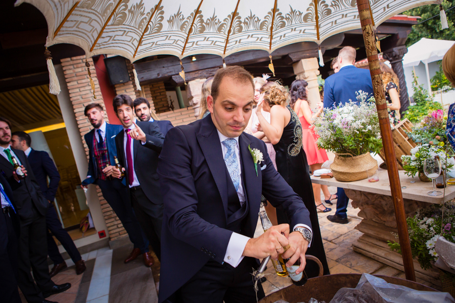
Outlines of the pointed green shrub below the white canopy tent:
[{"label": "pointed green shrub below the white canopy tent", "polygon": [[418,78],[419,77],[417,77],[413,71],[413,98],[416,105],[408,107],[407,111],[403,113],[404,117],[412,123],[419,123],[423,116],[426,116],[435,110],[442,109],[442,106],[439,103],[433,102],[428,91],[423,88],[423,84],[419,85],[419,82],[417,82]]}]

